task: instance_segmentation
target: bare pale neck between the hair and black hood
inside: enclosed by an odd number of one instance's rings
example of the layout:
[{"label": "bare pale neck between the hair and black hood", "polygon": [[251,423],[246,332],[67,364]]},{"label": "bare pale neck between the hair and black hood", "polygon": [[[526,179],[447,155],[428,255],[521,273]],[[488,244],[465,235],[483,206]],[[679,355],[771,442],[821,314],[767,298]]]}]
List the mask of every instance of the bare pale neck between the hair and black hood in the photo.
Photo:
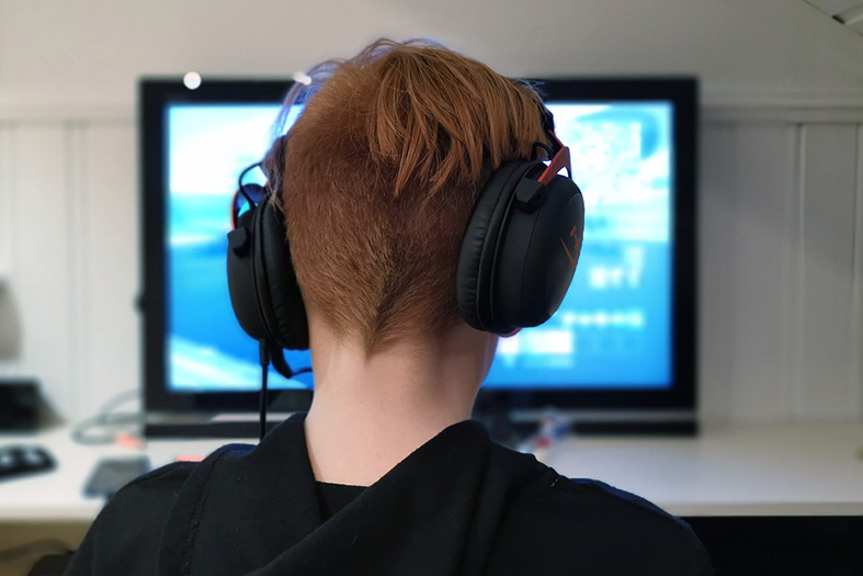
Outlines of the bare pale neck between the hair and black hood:
[{"label": "bare pale neck between the hair and black hood", "polygon": [[315,397],[306,442],[318,482],[368,486],[444,428],[470,417],[497,338],[467,326],[366,358],[310,318]]}]

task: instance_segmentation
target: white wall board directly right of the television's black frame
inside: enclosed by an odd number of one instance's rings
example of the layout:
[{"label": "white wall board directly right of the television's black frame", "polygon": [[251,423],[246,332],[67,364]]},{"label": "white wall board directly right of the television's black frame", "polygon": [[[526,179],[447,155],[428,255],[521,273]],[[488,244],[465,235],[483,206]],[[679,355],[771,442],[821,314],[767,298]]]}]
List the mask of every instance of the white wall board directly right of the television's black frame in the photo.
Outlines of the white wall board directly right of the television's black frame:
[{"label": "white wall board directly right of the television's black frame", "polygon": [[701,182],[701,365],[707,418],[787,415],[787,244],[796,129],[709,123]]}]

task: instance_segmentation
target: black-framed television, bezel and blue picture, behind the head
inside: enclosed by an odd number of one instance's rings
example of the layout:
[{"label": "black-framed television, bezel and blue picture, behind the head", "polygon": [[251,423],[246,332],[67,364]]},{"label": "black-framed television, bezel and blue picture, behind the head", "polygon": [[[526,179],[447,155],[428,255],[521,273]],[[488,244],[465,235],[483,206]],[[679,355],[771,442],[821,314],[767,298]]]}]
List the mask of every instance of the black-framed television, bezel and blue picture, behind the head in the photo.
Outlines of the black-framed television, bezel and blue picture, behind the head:
[{"label": "black-framed television, bezel and blue picture, behind the head", "polygon": [[[226,235],[239,173],[268,150],[289,82],[140,86],[147,411],[253,410],[258,345],[234,317]],[[480,399],[692,414],[696,86],[542,81],[584,195],[581,260],[548,323],[500,340]],[[286,355],[295,370],[310,363],[308,352]],[[303,409],[314,374],[271,372],[270,386],[274,409]]]}]

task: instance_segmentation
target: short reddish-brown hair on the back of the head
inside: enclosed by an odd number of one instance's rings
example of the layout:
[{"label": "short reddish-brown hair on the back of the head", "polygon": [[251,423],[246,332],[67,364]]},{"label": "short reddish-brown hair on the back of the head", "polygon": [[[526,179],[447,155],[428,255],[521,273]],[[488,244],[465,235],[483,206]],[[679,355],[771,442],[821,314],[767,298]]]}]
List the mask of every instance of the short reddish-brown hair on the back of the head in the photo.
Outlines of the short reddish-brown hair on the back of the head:
[{"label": "short reddish-brown hair on the back of the head", "polygon": [[370,354],[451,329],[476,195],[545,142],[537,101],[430,44],[378,41],[339,63],[287,137],[283,206],[306,306]]}]

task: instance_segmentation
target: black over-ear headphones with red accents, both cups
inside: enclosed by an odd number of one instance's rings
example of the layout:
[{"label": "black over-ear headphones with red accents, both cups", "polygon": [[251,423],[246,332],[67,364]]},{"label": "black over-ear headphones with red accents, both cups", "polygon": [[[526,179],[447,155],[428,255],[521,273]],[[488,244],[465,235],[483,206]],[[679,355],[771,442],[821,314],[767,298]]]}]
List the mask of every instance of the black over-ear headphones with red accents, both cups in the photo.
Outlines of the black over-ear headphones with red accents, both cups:
[{"label": "black over-ear headphones with red accents, both cups", "polygon": [[[554,118],[541,108],[550,165],[515,160],[491,174],[462,239],[455,297],[464,320],[478,330],[506,335],[538,326],[557,310],[576,272],[584,230],[584,202],[571,180],[569,148],[554,134]],[[261,166],[269,185],[281,182],[285,138]],[[250,170],[250,167],[248,170]],[[558,174],[563,168],[568,177]],[[272,172],[272,173],[268,173]],[[242,184],[235,196],[228,233],[228,286],[242,329],[282,349],[309,347],[303,296],[291,261],[281,185]],[[249,210],[240,213],[245,197]],[[274,200],[275,199],[275,200]],[[274,359],[280,355],[275,354]]]}]

